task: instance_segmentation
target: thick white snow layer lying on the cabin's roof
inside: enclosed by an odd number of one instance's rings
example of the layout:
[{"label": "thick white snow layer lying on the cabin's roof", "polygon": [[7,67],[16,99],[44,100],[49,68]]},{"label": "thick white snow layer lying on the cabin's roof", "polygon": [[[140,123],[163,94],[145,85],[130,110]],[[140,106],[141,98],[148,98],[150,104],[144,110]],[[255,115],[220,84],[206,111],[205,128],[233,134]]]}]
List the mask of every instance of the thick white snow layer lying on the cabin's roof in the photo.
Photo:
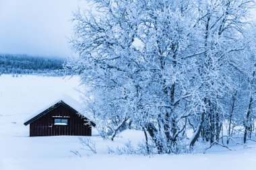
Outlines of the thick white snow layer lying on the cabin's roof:
[{"label": "thick white snow layer lying on the cabin's roof", "polygon": [[63,93],[61,95],[59,95],[59,97],[55,97],[55,99],[52,100],[52,102],[49,105],[46,105],[44,108],[38,110],[38,112],[32,114],[29,118],[27,118],[24,122],[28,122],[29,120],[31,120],[32,118],[38,116],[39,114],[41,114],[42,112],[44,112],[45,110],[51,108],[53,105],[55,105],[56,103],[59,103],[59,101],[63,101],[64,103],[66,103],[67,105],[69,105],[71,108],[73,108],[74,110],[76,110],[77,112],[79,112],[79,114],[82,114],[82,104],[79,103],[78,101],[76,101],[75,99],[73,99],[72,97],[70,97],[69,95]]}]

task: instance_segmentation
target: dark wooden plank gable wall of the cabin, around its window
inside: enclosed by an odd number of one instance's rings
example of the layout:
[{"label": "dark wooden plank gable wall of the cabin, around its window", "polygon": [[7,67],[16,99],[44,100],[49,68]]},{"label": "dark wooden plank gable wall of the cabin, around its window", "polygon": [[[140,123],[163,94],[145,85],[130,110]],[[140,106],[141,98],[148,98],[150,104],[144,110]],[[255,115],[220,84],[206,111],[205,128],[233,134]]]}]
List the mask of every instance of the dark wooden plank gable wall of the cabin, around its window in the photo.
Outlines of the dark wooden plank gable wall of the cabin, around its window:
[{"label": "dark wooden plank gable wall of the cabin, around its window", "polygon": [[[54,125],[55,116],[69,117],[68,125]],[[92,128],[85,123],[84,118],[61,104],[30,124],[30,136],[92,136]]]}]

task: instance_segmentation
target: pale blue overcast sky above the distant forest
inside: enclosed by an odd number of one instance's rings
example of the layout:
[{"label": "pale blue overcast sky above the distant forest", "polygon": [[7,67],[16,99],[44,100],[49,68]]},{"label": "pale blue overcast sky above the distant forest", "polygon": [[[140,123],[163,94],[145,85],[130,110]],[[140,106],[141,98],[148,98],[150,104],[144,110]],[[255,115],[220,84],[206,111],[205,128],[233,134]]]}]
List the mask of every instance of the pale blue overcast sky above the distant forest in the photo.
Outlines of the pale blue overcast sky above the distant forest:
[{"label": "pale blue overcast sky above the distant forest", "polygon": [[78,0],[0,0],[0,53],[70,56]]}]

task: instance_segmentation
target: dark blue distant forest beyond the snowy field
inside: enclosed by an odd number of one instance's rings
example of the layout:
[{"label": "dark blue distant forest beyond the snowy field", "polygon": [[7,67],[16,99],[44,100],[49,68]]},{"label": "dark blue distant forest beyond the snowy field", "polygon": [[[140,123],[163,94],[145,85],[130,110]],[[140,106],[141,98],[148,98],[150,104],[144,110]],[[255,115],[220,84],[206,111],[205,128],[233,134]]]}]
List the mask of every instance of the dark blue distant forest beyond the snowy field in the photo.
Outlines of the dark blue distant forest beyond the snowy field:
[{"label": "dark blue distant forest beyond the snowy field", "polygon": [[64,58],[29,56],[26,54],[0,54],[0,75],[49,75],[65,74]]}]

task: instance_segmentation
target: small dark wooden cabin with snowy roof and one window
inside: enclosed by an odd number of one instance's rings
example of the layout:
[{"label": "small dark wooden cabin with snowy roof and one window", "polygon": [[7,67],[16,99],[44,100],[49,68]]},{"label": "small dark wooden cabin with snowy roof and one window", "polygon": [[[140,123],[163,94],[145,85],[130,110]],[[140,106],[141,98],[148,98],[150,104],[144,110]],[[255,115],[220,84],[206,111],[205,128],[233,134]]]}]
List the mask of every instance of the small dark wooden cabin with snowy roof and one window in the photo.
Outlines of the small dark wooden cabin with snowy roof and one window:
[{"label": "small dark wooden cabin with snowy roof and one window", "polygon": [[79,104],[73,99],[58,99],[24,125],[30,124],[30,136],[92,136],[94,122],[80,114],[77,108]]}]

